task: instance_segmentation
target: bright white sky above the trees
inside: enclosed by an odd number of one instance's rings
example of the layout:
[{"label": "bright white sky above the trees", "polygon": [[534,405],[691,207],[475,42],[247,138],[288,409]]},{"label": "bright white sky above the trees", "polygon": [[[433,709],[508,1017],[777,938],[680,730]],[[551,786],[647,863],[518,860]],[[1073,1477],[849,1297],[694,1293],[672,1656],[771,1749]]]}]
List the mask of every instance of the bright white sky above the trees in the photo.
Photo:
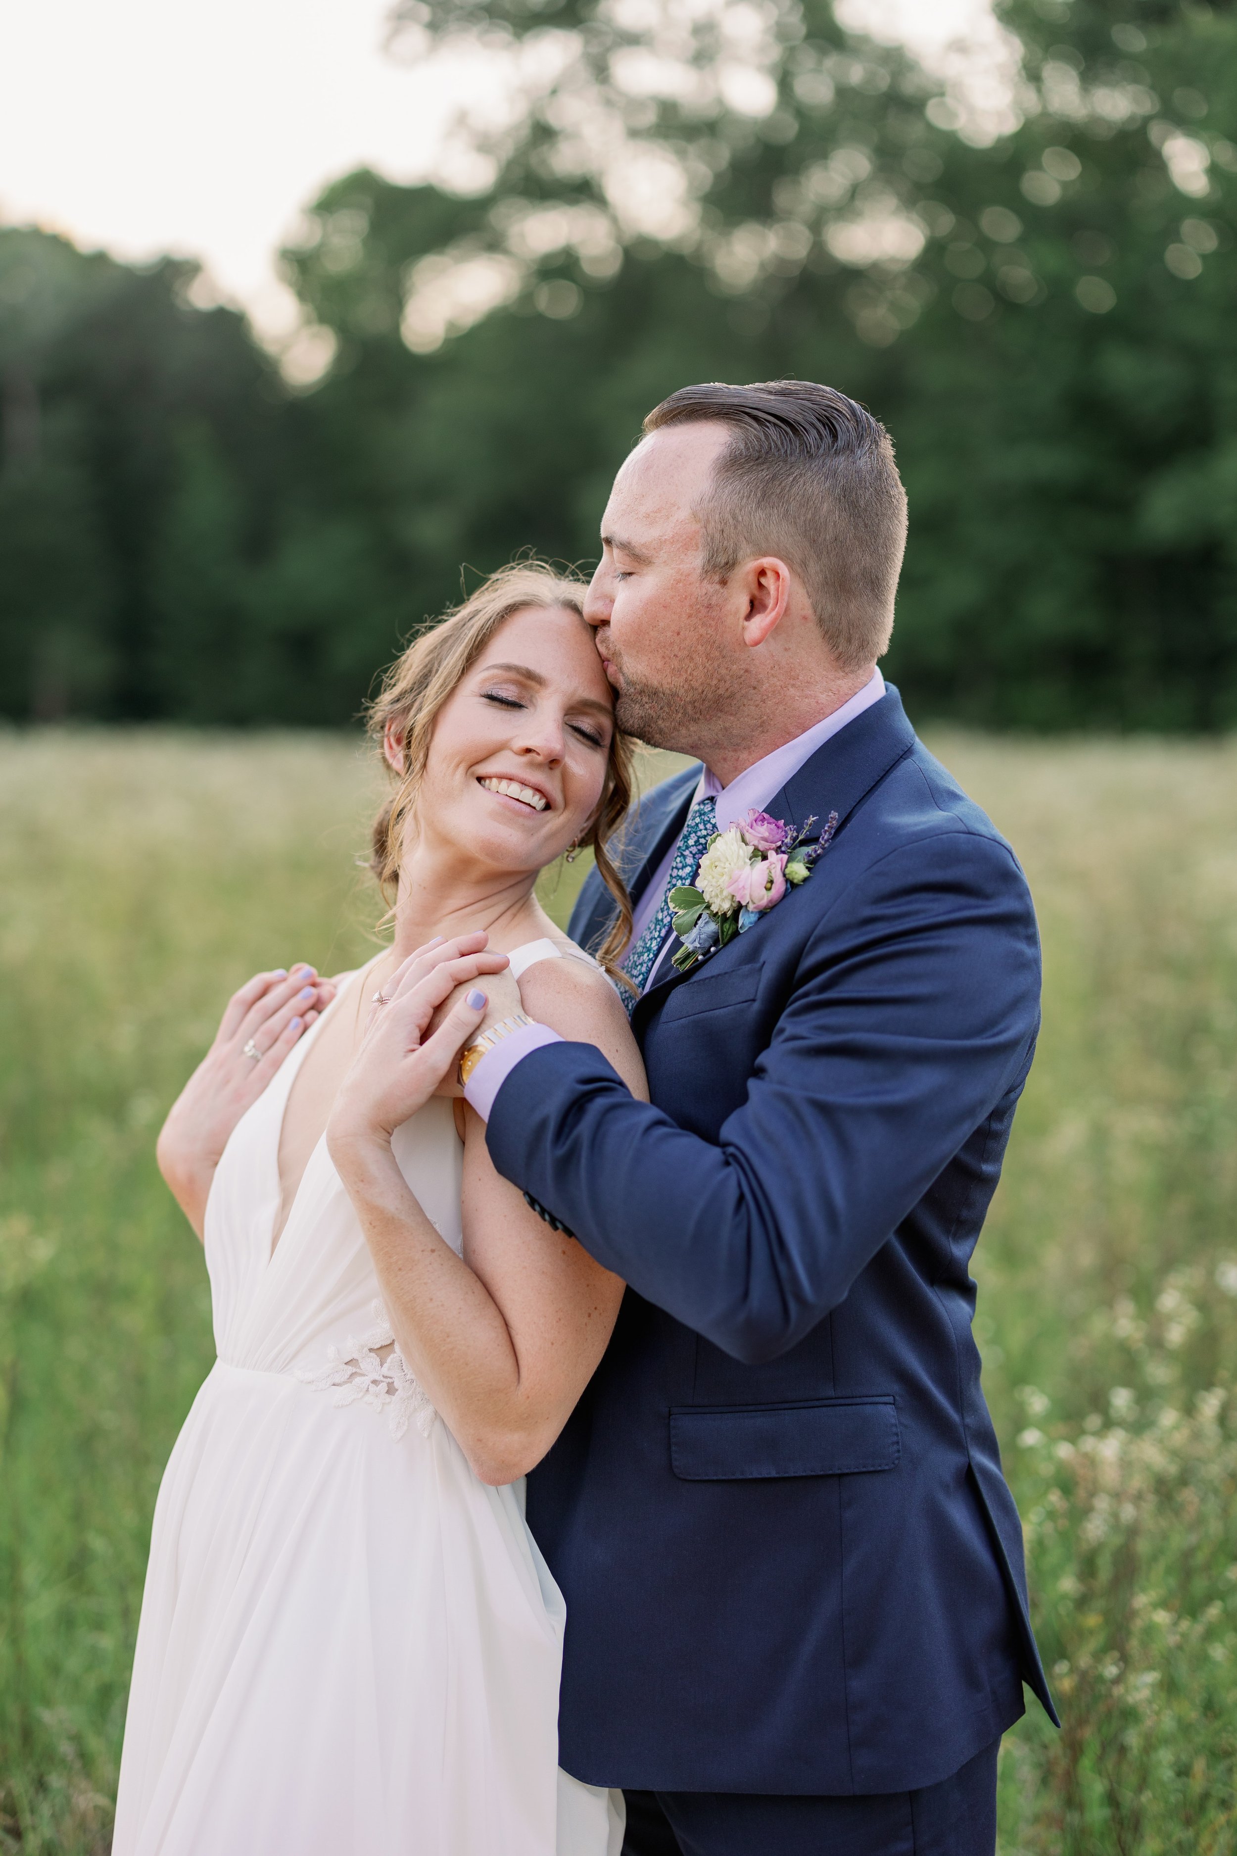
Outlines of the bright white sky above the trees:
[{"label": "bright white sky above the trees", "polygon": [[[384,0],[0,0],[0,221],[122,258],[198,256],[271,334],[273,254],[321,186],[434,160],[477,74],[382,52]],[[990,33],[987,0],[840,0],[929,56]]]}]

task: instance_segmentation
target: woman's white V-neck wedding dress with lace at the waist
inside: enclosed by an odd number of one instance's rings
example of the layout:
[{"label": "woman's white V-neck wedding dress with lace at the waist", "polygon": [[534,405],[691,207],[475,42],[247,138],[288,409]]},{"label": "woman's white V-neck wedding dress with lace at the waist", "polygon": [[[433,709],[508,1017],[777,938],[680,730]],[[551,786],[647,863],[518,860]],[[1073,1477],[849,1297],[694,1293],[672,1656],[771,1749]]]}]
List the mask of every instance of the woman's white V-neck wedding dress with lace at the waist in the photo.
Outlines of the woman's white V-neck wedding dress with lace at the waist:
[{"label": "woman's white V-neck wedding dress with lace at the waist", "polygon": [[[523,1481],[480,1483],[386,1351],[325,1140],[271,1251],[284,1104],[325,1017],[211,1184],[219,1359],[154,1514],[113,1856],[618,1856],[621,1795],[558,1771],[564,1602]],[[458,1251],[453,1104],[393,1145]]]}]

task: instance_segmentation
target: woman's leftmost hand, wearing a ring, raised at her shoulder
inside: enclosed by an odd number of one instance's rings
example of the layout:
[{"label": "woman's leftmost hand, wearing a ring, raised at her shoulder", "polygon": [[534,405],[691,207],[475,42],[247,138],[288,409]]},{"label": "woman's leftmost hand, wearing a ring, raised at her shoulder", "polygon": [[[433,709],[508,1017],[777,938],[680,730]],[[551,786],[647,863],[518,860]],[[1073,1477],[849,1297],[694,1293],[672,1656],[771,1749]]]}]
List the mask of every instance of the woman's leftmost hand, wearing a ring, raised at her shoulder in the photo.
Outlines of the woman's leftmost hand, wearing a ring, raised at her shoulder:
[{"label": "woman's leftmost hand, wearing a ring, raised at her shoulder", "polygon": [[159,1171],[198,1236],[232,1128],[334,997],[334,982],[319,980],[300,961],[291,973],[256,973],[228,1000],[215,1041],[172,1102],[156,1143]]}]

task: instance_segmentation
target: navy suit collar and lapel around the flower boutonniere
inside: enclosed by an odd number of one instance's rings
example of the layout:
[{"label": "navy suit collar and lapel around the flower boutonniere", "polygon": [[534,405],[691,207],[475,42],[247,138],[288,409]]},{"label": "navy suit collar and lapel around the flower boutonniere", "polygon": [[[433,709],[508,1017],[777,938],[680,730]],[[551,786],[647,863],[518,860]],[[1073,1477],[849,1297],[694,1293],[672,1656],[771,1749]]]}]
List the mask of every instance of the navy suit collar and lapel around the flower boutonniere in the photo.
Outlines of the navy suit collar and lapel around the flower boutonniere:
[{"label": "navy suit collar and lapel around the flower boutonniere", "polygon": [[[842,733],[827,741],[823,748],[818,748],[797,774],[790,776],[781,793],[773,794],[764,811],[770,818],[784,818],[796,830],[814,817],[812,837],[823,831],[829,813],[836,811],[836,835],[844,830],[846,820],[859,802],[885,780],[912,746],[914,729],[901,707],[901,696],[892,683],[886,683],[885,696],[855,716],[853,722],[848,722]],[[777,908],[784,908],[788,902],[790,896],[784,896]],[[747,932],[757,934],[760,930],[757,926]],[[723,961],[740,945],[740,939],[744,937],[734,935],[733,941],[708,960],[692,967],[692,973],[677,973],[670,965],[673,948],[668,947],[657,965],[662,978],[647,989],[632,1013],[636,1036],[644,1030],[644,1023],[651,1012],[649,1000],[662,999],[673,986],[690,982],[697,973],[716,971],[718,961]]]}]

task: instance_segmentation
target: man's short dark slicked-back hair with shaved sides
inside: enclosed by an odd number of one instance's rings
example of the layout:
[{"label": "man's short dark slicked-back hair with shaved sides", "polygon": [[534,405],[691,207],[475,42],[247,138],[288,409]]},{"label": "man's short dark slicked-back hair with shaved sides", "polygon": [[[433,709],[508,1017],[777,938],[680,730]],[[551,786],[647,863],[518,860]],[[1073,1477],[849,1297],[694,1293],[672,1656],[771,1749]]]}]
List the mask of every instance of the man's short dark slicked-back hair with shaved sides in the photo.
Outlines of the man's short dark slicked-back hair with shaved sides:
[{"label": "man's short dark slicked-back hair with shaved sides", "polygon": [[727,579],[740,561],[779,555],[838,664],[874,663],[894,629],[907,540],[907,492],[881,421],[814,380],[708,380],[681,386],[644,431],[705,419],[731,429],[697,510],[705,574]]}]

